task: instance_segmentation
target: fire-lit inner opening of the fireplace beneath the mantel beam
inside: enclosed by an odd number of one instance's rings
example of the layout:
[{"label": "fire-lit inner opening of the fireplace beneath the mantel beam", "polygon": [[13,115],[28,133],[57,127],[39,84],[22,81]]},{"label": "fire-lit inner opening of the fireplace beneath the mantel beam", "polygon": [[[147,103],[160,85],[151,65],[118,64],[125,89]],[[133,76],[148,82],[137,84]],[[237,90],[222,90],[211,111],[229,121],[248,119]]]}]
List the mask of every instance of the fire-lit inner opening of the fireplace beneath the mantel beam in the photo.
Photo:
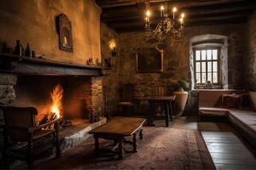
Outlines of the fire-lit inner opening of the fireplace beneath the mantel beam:
[{"label": "fire-lit inner opening of the fireplace beneath the mantel beam", "polygon": [[95,103],[96,99],[101,99],[102,86],[95,77],[18,76],[14,105],[36,107],[39,122],[52,103],[50,94],[56,85],[63,90],[61,117],[88,119],[90,112],[102,115],[101,102]]}]

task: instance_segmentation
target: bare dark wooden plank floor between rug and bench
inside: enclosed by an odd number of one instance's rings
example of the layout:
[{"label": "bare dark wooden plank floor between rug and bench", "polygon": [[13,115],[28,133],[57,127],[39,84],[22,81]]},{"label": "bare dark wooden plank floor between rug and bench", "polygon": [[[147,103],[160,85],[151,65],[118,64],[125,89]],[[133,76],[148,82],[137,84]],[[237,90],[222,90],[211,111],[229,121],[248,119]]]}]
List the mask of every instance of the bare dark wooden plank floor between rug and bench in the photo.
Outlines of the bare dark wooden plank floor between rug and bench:
[{"label": "bare dark wooden plank floor between rug and bench", "polygon": [[256,169],[256,151],[225,122],[196,122],[196,117],[179,117],[170,127],[200,129],[217,169]]}]

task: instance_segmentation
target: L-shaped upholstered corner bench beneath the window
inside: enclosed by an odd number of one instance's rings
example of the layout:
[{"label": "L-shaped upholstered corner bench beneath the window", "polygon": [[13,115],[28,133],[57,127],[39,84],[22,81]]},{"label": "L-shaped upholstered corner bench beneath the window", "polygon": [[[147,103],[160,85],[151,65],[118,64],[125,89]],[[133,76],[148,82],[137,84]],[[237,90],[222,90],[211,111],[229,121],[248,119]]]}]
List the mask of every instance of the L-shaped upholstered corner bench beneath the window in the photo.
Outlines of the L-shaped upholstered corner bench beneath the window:
[{"label": "L-shaped upholstered corner bench beneath the window", "polygon": [[199,90],[198,105],[200,120],[205,116],[223,116],[236,127],[241,134],[256,146],[256,93],[250,92],[250,107],[247,109],[222,108],[223,94],[242,94],[238,90]]}]

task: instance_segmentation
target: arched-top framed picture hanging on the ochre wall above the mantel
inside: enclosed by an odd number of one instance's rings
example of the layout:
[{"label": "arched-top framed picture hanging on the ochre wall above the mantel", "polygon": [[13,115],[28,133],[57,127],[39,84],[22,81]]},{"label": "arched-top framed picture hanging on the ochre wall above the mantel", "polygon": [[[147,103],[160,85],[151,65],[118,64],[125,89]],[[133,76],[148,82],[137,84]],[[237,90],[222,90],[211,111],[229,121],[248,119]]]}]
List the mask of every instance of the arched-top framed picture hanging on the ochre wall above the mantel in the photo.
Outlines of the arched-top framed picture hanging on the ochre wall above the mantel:
[{"label": "arched-top framed picture hanging on the ochre wall above the mantel", "polygon": [[66,14],[60,14],[58,17],[58,32],[60,39],[60,49],[64,51],[73,51],[72,25]]}]

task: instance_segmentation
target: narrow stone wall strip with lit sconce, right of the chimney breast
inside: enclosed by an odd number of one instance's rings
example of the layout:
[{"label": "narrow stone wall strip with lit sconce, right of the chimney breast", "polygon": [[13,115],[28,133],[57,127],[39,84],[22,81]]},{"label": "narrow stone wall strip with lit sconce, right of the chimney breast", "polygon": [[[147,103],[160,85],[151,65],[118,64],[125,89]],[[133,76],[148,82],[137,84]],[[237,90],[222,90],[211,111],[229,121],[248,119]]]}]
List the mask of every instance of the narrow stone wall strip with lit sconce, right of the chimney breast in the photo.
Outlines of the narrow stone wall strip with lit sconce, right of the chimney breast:
[{"label": "narrow stone wall strip with lit sconce, right of the chimney breast", "polygon": [[[112,56],[111,49],[109,48],[110,42],[116,42],[117,55]],[[113,68],[106,69],[106,76],[102,77],[102,85],[104,94],[108,94],[109,111],[113,114],[117,111],[117,103],[119,101],[119,60],[122,55],[119,54],[119,35],[108,28],[105,24],[101,23],[101,49],[102,49],[102,60],[111,58],[113,61]]]}]

